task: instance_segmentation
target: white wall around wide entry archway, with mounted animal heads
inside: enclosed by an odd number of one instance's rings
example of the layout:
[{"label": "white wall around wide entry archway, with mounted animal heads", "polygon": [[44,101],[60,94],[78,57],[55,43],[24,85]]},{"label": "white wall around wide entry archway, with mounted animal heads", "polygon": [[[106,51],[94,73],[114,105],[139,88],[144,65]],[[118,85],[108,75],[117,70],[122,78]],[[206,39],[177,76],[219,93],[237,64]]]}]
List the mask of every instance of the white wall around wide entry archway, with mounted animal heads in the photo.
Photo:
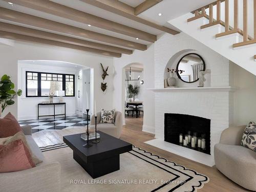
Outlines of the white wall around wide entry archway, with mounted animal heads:
[{"label": "white wall around wide entry archway, with mounted animal heads", "polygon": [[[0,53],[0,76],[4,74],[10,75],[15,85],[17,85],[18,80],[18,60],[58,60],[90,67],[94,71],[94,98],[97,101],[97,107],[106,109],[112,108],[114,70],[113,58],[111,57],[100,56],[68,48],[38,45],[20,41],[15,41],[15,45],[13,47],[0,45]],[[108,83],[108,91],[106,94],[103,94],[100,89],[100,83],[102,82],[100,62],[104,66],[109,66],[109,76],[105,79],[105,81]],[[19,87],[16,87],[16,89],[18,88]],[[17,117],[17,108],[17,98],[15,98],[15,104],[8,106],[3,116],[8,112],[11,112],[14,116]]]}]

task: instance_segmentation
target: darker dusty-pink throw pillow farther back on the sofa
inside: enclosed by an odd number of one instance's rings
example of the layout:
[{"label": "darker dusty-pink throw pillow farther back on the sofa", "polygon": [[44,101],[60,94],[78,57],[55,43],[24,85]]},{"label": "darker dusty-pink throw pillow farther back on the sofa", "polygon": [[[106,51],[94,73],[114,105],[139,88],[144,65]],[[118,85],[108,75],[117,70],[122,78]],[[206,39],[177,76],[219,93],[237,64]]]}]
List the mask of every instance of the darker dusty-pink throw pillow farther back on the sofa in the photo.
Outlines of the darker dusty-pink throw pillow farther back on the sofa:
[{"label": "darker dusty-pink throw pillow farther back on the sofa", "polygon": [[0,138],[10,137],[22,131],[16,118],[8,113],[3,119],[0,118]]}]

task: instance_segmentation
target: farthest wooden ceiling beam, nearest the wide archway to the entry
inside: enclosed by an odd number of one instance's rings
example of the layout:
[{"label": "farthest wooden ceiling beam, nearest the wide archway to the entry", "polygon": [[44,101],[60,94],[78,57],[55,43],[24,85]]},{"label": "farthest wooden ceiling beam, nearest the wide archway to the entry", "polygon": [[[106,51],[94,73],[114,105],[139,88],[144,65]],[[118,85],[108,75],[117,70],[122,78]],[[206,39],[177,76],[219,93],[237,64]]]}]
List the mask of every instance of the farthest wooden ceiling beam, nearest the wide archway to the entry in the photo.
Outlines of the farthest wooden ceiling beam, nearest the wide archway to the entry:
[{"label": "farthest wooden ceiling beam, nearest the wide archway to the entry", "polygon": [[38,43],[38,44],[65,47],[65,48],[76,49],[76,50],[86,51],[86,52],[90,52],[90,53],[96,53],[96,54],[110,56],[110,57],[121,57],[120,53],[114,53],[114,52],[110,52],[110,51],[93,49],[93,48],[88,48],[88,47],[83,47],[83,46],[72,45],[72,44],[66,44],[65,42],[48,40],[48,39],[43,39],[43,38],[38,38],[38,37],[31,37],[31,36],[27,36],[27,35],[10,33],[10,32],[6,32],[6,31],[0,31],[0,37],[12,39],[12,40],[34,42],[34,43]]}]

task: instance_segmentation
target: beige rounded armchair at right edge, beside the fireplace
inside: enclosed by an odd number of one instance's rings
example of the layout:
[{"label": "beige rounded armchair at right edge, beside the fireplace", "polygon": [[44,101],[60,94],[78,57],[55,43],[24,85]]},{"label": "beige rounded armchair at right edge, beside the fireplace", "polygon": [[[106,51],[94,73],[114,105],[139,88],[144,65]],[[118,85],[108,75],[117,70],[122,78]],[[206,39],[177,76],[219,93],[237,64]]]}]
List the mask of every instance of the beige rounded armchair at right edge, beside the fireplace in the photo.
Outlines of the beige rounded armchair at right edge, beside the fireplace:
[{"label": "beige rounded armchair at right edge, beside the fireplace", "polygon": [[244,126],[229,127],[214,147],[216,167],[233,182],[256,190],[256,153],[241,145]]}]

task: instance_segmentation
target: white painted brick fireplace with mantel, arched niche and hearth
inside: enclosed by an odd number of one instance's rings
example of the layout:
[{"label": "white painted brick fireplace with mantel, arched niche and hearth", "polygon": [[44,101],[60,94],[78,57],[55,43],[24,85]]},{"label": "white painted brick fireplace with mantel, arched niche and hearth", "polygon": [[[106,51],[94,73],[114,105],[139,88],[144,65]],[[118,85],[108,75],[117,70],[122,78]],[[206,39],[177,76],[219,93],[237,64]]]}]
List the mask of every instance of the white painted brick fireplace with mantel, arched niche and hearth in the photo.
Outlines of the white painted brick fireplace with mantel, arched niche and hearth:
[{"label": "white painted brick fireplace with mantel, arched niche and hearth", "polygon": [[[198,53],[205,60],[206,76],[204,88],[198,82],[184,83],[178,80],[179,88],[163,88],[167,78],[166,68],[176,69],[178,60],[186,53]],[[232,63],[184,33],[163,35],[155,43],[155,137],[146,143],[175,153],[185,158],[212,166],[214,145],[219,142],[224,129],[233,123]],[[204,154],[183,146],[164,141],[164,114],[177,113],[199,116],[211,120],[210,151]],[[182,123],[182,122],[181,122]]]}]

